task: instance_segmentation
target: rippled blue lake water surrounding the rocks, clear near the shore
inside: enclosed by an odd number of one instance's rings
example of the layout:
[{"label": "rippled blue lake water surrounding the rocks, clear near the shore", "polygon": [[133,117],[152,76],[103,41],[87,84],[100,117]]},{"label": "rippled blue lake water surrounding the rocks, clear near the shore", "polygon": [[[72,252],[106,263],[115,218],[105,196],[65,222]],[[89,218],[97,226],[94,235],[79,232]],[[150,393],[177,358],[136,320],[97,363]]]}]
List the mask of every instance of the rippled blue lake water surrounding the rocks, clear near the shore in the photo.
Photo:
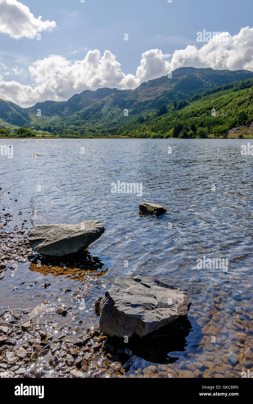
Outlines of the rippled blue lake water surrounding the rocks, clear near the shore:
[{"label": "rippled blue lake water surrounding the rocks, clear near the shore", "polygon": [[[74,303],[83,328],[98,326],[95,300],[116,276],[154,276],[183,288],[193,300],[185,351],[170,353],[179,358],[175,371],[190,369],[181,368],[183,360],[201,360],[215,365],[206,364],[206,377],[213,377],[210,369],[218,374],[221,368],[226,377],[240,377],[244,366],[251,367],[253,346],[253,160],[240,154],[240,145],[247,142],[3,139],[1,144],[12,144],[14,153],[13,159],[0,158],[1,204],[16,219],[7,230],[18,223],[21,211],[29,228],[97,219],[105,233],[89,248],[100,262],[98,271],[83,276],[78,269],[51,273],[48,267],[18,263],[0,281],[0,307],[36,307],[45,298],[52,306],[59,299],[73,306],[72,294],[59,290],[69,287],[81,295]],[[32,157],[34,153],[41,157]],[[142,183],[143,195],[112,194],[111,183],[118,180]],[[167,213],[141,216],[141,201],[162,204]],[[228,259],[228,269],[198,269],[197,259],[204,255]],[[22,280],[39,282],[29,287],[19,285]],[[50,289],[42,288],[42,282],[51,283]],[[71,317],[66,321],[72,324]],[[242,334],[244,342],[238,342]],[[235,368],[226,358],[230,351],[240,359]]]}]

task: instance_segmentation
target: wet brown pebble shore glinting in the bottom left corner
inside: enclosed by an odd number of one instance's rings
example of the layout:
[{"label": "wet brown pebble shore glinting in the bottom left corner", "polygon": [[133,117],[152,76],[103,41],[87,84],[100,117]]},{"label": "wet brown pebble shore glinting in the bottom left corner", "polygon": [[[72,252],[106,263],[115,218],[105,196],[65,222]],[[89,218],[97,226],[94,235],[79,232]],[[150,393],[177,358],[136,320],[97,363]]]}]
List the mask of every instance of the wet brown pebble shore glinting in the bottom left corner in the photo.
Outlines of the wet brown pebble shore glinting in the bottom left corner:
[{"label": "wet brown pebble shore glinting in the bottom left corner", "polygon": [[[125,369],[110,353],[103,353],[106,337],[97,329],[87,329],[76,341],[66,325],[62,338],[43,329],[50,322],[33,323],[27,313],[13,310],[0,314],[1,377],[115,377]],[[69,339],[68,336],[70,335]]]}]

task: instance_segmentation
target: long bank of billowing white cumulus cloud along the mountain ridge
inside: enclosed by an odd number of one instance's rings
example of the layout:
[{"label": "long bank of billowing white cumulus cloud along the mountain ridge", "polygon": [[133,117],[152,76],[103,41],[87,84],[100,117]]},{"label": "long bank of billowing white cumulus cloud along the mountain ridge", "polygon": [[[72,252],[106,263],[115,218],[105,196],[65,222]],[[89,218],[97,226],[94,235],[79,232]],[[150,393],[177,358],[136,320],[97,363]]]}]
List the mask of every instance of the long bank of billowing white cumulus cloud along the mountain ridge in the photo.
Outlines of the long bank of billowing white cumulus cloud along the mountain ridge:
[{"label": "long bank of billowing white cumulus cloud along the mountain ridge", "polygon": [[188,45],[175,50],[172,56],[159,49],[148,50],[143,53],[135,74],[122,72],[116,56],[109,50],[103,55],[97,49],[89,50],[83,60],[77,61],[51,55],[29,67],[32,86],[0,78],[0,98],[22,106],[49,99],[63,101],[86,89],[136,88],[144,81],[165,76],[183,66],[253,71],[253,28],[242,28],[234,36],[227,33],[226,41],[219,40],[220,35],[200,47]]}]

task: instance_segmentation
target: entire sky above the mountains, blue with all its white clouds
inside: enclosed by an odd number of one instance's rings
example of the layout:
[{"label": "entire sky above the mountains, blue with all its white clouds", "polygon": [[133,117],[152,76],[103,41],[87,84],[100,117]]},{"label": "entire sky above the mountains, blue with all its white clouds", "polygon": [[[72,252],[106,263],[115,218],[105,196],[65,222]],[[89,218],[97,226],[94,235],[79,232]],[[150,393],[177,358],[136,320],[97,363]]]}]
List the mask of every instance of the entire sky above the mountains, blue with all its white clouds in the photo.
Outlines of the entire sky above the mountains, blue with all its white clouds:
[{"label": "entire sky above the mountains, blue with all its white clouds", "polygon": [[0,0],[0,98],[63,101],[182,66],[253,71],[252,15],[252,0]]}]

